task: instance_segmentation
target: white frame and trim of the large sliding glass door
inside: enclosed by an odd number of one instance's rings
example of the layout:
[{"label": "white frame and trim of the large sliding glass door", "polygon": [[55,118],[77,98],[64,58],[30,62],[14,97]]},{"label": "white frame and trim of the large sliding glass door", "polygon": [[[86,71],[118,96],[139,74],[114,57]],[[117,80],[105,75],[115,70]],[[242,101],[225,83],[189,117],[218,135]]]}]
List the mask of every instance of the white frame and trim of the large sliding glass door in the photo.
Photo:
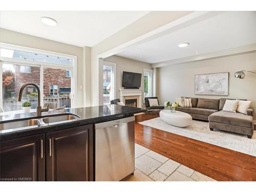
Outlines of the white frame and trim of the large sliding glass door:
[{"label": "white frame and trim of the large sliding glass door", "polygon": [[[11,49],[11,50],[17,50],[17,51],[25,51],[25,52],[32,52],[37,54],[47,54],[51,56],[58,56],[63,57],[67,59],[73,60],[73,65],[67,65],[67,64],[57,64],[57,63],[51,63],[51,62],[40,62],[40,61],[30,61],[30,60],[22,60],[22,59],[15,59],[15,58],[7,58],[7,57],[0,57],[0,83],[2,84],[3,78],[2,78],[2,63],[7,64],[14,64],[14,65],[22,65],[22,66],[36,66],[40,67],[41,73],[40,73],[40,90],[44,90],[44,67],[45,68],[55,68],[55,69],[63,69],[63,70],[71,70],[71,73],[73,74],[73,78],[71,78],[71,90],[73,90],[73,93],[70,94],[70,98],[73,100],[73,106],[72,108],[76,108],[77,106],[77,56],[75,55],[68,55],[63,53],[57,53],[47,50],[40,50],[40,49],[34,49],[29,47],[23,47],[23,46],[17,46],[12,44],[6,44],[4,42],[0,42],[0,47],[3,49]],[[3,107],[3,88],[0,86],[0,106]],[[41,94],[41,103],[44,103],[44,94]]]}]

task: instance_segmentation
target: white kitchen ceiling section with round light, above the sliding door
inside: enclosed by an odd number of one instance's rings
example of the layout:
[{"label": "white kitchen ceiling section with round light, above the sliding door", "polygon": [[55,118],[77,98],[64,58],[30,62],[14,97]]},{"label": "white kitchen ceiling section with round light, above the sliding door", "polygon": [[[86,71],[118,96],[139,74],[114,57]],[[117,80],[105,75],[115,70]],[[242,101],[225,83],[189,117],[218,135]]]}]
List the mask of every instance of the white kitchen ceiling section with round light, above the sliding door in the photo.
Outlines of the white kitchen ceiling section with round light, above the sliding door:
[{"label": "white kitchen ceiling section with round light, above the sliding door", "polygon": [[[93,47],[148,11],[1,11],[0,27],[75,46]],[[55,27],[41,17],[55,19]]]}]

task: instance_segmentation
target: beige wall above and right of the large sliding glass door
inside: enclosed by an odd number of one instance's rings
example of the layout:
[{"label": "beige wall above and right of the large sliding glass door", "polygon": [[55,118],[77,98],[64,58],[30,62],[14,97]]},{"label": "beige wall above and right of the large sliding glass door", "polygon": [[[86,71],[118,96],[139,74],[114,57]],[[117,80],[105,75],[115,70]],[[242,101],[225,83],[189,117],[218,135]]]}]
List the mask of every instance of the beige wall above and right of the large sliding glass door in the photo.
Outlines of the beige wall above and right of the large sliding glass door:
[{"label": "beige wall above and right of the large sliding glass door", "polygon": [[[84,105],[83,93],[85,93],[86,89],[83,82],[83,76],[85,74],[83,67],[83,48],[3,28],[0,28],[0,42],[77,56],[77,106],[80,107]],[[87,51],[90,52],[88,49]],[[88,59],[90,61],[90,58]],[[90,73],[90,69],[88,72]],[[90,89],[89,87],[89,91]]]}]

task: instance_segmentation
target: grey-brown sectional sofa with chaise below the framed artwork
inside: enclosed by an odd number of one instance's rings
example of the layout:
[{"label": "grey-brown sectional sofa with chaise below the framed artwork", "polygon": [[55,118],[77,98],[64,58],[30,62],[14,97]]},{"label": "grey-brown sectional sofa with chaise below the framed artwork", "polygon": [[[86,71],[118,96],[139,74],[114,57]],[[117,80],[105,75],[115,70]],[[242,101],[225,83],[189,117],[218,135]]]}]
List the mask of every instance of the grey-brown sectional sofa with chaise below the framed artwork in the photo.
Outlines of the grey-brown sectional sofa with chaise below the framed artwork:
[{"label": "grey-brown sectional sofa with chaise below the framed artwork", "polygon": [[253,110],[248,109],[246,114],[222,111],[225,101],[226,98],[191,98],[192,108],[178,107],[176,110],[188,113],[193,119],[209,121],[211,131],[214,129],[224,130],[244,134],[251,138],[253,135]]}]

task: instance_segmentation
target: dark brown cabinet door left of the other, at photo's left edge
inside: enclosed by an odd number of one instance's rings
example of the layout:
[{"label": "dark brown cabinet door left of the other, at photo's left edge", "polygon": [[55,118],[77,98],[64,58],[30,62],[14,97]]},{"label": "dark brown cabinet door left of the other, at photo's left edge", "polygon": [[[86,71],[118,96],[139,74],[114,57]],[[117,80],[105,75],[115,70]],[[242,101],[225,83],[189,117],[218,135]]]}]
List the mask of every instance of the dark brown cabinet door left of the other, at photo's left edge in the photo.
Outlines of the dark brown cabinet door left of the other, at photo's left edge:
[{"label": "dark brown cabinet door left of the other, at photo's left edge", "polygon": [[44,150],[44,134],[1,142],[1,180],[44,181]]}]

